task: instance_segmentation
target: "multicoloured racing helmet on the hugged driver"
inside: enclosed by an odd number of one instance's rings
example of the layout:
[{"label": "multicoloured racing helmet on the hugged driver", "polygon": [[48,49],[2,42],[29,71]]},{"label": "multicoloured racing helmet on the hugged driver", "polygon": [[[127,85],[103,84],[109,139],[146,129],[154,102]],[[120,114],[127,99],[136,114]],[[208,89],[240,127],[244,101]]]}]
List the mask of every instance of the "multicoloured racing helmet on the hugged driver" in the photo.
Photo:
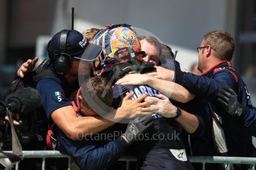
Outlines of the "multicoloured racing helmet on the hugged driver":
[{"label": "multicoloured racing helmet on the hugged driver", "polygon": [[122,76],[129,71],[140,72],[154,64],[142,60],[145,52],[140,50],[137,33],[128,24],[106,27],[93,38],[93,44],[102,46],[102,53],[93,61],[94,75],[118,72]]}]

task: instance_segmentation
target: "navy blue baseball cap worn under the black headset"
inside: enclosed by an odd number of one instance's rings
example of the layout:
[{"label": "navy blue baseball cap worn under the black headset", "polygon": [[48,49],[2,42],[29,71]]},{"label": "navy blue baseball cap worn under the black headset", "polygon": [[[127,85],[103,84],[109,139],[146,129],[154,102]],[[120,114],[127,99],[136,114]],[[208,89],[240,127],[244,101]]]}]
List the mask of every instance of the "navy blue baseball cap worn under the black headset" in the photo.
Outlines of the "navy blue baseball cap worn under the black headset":
[{"label": "navy blue baseball cap worn under the black headset", "polygon": [[[50,59],[53,59],[56,53],[62,52],[60,47],[60,35],[64,30],[53,35],[53,38],[48,42],[47,51]],[[91,44],[86,41],[86,38],[76,30],[66,30],[68,35],[65,44],[65,53],[71,57],[81,58],[82,54],[84,59],[93,60],[96,58],[100,52],[102,52],[102,47]]]}]

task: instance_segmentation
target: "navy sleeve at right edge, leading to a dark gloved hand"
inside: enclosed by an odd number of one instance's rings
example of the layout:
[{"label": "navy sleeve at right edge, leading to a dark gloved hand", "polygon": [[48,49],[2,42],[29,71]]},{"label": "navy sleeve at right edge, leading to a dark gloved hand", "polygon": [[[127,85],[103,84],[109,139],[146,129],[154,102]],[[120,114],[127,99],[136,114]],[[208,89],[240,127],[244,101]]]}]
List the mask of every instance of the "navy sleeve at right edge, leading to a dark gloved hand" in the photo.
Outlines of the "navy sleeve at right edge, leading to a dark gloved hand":
[{"label": "navy sleeve at right edge, leading to a dark gloved hand", "polygon": [[250,135],[256,137],[256,109],[255,107],[244,107],[242,115],[238,118],[242,125],[249,131]]}]

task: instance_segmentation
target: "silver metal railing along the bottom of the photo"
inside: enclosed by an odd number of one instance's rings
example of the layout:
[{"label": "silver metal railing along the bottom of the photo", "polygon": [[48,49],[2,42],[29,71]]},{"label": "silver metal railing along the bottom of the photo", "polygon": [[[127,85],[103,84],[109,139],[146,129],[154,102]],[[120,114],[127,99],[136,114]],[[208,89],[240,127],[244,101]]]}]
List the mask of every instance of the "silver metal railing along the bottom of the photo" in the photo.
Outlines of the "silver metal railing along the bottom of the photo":
[{"label": "silver metal railing along the bottom of the photo", "polygon": [[[11,152],[9,152],[11,153]],[[23,151],[24,159],[26,158],[42,158],[42,169],[45,169],[46,158],[68,158],[68,169],[70,170],[71,160],[67,154],[62,154],[59,151]],[[6,158],[4,154],[0,153],[0,158]],[[232,164],[246,164],[252,165],[252,170],[255,170],[256,157],[189,157],[191,163],[202,163],[202,169],[205,169],[206,163],[226,163]],[[137,161],[136,157],[125,156],[121,157],[119,161],[126,162],[126,169],[130,169],[130,162]],[[16,169],[19,169],[19,163],[16,163]]]}]

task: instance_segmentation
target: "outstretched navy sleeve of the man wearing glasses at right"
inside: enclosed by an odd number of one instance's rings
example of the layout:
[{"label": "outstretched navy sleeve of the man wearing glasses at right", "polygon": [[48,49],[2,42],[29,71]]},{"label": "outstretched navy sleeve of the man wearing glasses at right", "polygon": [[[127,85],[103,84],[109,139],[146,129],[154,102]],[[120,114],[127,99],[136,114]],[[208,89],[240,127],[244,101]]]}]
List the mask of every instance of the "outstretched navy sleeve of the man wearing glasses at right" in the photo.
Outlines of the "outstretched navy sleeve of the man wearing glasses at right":
[{"label": "outstretched navy sleeve of the man wearing glasses at right", "polygon": [[190,72],[183,72],[183,78],[179,83],[194,95],[213,100],[220,87],[228,86],[235,89],[236,81],[232,73],[227,70],[217,72],[212,78],[201,75],[194,75]]}]

